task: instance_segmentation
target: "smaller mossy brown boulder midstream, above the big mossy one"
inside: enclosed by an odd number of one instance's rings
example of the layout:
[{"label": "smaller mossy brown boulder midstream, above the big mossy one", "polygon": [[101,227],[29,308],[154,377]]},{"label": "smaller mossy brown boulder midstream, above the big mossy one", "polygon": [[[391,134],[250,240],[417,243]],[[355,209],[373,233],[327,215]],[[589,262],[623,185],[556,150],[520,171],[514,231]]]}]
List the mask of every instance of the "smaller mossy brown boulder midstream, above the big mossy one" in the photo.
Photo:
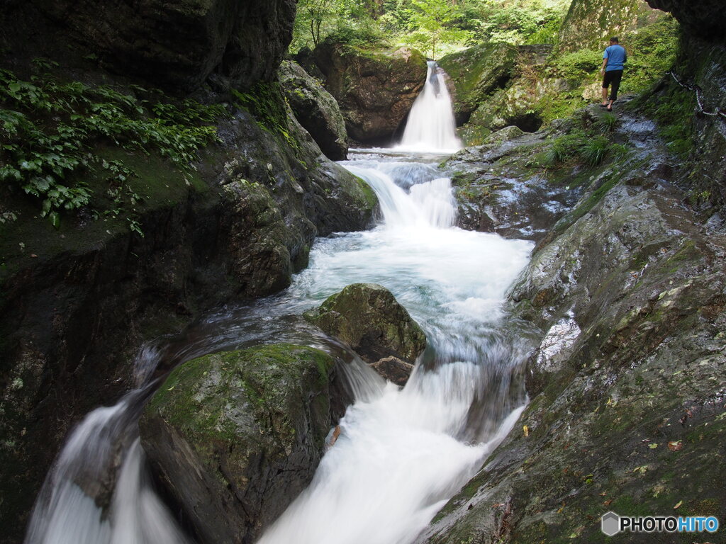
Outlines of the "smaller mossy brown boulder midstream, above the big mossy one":
[{"label": "smaller mossy brown boulder midstream, above the big mossy one", "polygon": [[426,337],[385,287],[351,284],[304,317],[346,342],[383,377],[404,384]]}]

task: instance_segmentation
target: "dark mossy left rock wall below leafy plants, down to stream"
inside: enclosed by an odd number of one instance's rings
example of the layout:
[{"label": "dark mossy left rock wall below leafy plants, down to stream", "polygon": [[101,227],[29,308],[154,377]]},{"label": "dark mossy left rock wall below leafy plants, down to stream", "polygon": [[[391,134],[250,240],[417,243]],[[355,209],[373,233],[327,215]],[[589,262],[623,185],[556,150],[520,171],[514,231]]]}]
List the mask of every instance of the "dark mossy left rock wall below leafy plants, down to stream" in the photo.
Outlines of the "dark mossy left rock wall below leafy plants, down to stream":
[{"label": "dark mossy left rock wall below leafy plants, down to stream", "polygon": [[142,341],[287,287],[315,236],[367,227],[370,188],[293,119],[289,129],[298,149],[240,110],[220,124],[222,142],[203,152],[192,186],[163,162],[148,170],[171,189],[142,214],[143,238],[93,221],[58,233],[44,221],[20,238],[27,252],[6,257],[17,272],[0,273],[0,541],[22,533],[70,426],[133,385]]}]

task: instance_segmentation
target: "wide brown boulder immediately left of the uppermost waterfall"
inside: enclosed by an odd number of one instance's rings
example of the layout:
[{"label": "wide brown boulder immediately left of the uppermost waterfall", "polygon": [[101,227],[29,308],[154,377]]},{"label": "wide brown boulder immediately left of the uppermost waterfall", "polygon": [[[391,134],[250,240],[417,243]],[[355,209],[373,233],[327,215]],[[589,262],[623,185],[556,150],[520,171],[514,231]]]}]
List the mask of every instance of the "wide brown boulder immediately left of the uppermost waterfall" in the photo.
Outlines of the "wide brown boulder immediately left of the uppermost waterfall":
[{"label": "wide brown boulder immediately left of the uppermost waterfall", "polygon": [[348,136],[390,140],[426,79],[426,59],[415,49],[362,49],[323,41],[313,51],[325,88],[340,104]]}]

